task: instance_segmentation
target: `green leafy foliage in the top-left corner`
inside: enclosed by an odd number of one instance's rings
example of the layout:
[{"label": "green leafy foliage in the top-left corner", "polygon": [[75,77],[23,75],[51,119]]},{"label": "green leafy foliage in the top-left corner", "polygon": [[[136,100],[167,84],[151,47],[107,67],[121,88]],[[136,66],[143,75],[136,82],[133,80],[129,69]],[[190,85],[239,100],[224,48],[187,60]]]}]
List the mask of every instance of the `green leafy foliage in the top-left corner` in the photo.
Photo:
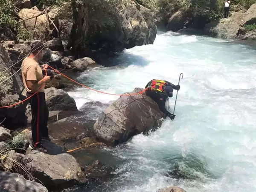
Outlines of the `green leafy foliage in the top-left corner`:
[{"label": "green leafy foliage in the top-left corner", "polygon": [[0,24],[14,27],[16,24],[16,9],[9,0],[0,0]]}]

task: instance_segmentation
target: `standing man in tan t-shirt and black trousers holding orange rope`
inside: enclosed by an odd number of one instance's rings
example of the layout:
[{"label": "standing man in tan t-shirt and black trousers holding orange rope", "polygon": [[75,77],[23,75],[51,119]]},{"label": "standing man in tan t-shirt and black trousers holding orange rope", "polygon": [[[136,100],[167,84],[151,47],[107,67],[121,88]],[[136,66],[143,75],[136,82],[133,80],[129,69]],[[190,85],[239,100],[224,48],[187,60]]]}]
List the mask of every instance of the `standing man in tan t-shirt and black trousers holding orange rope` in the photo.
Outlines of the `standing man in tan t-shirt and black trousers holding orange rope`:
[{"label": "standing man in tan t-shirt and black trousers holding orange rope", "polygon": [[[47,122],[49,111],[46,106],[44,86],[50,80],[49,76],[43,77],[41,67],[38,64],[44,55],[44,44],[40,41],[35,41],[31,44],[30,55],[22,62],[22,79],[27,91],[32,112],[31,131],[32,143],[31,147],[34,150],[47,153],[46,148],[41,145],[41,140],[50,140],[48,135]],[[43,65],[46,70],[48,65]]]}]

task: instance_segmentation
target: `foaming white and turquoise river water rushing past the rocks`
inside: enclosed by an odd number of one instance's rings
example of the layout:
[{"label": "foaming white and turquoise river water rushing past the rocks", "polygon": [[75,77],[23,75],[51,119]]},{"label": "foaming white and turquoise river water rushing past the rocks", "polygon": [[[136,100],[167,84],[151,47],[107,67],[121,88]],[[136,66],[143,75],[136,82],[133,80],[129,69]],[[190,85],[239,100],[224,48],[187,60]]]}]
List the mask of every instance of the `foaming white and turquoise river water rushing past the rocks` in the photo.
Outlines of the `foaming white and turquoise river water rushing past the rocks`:
[{"label": "foaming white and turquoise river water rushing past the rocks", "polygon": [[[125,50],[113,61],[122,67],[82,74],[81,82],[108,93],[145,87],[151,79],[177,84],[184,74],[175,120],[125,146],[105,148],[120,161],[117,176],[93,191],[156,192],[177,185],[187,192],[255,192],[255,55],[248,45],[166,32],[154,45]],[[118,98],[85,88],[69,94],[78,107]],[[171,108],[174,102],[175,96]],[[194,179],[167,177],[177,165]]]}]

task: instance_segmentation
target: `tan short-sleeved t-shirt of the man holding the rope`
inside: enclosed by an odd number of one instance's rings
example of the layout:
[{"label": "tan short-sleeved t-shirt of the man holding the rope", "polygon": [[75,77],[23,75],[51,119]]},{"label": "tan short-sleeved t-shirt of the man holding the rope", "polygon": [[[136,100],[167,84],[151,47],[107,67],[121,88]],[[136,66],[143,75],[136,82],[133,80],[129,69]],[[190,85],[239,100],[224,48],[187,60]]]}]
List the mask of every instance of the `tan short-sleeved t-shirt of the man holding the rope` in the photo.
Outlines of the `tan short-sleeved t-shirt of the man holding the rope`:
[{"label": "tan short-sleeved t-shirt of the man holding the rope", "polygon": [[[21,64],[22,67],[22,79],[27,92],[34,93],[27,87],[26,81],[40,81],[44,78],[43,72],[38,64],[33,58],[25,58]],[[38,86],[38,90],[42,85]],[[44,92],[44,86],[39,90],[39,92]]]}]

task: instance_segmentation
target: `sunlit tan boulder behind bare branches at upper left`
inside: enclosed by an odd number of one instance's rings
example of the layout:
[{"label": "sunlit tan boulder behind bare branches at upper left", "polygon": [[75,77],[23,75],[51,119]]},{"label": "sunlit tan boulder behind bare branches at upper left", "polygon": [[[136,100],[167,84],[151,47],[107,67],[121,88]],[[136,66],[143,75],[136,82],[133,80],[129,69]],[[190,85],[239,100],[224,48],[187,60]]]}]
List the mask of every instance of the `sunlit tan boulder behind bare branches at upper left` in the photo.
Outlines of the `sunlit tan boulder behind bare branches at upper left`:
[{"label": "sunlit tan boulder behind bare branches at upper left", "polygon": [[[36,6],[34,6],[31,9],[27,9],[27,8],[21,9],[18,15],[20,17],[20,20],[24,20],[30,17],[34,17],[36,15],[39,15],[40,13],[41,12],[39,11],[39,9]],[[55,24],[55,26],[58,27],[57,15],[52,12],[49,12],[48,15],[49,15],[49,18]],[[35,36],[34,36],[35,39],[48,39],[49,35],[50,35],[50,38],[58,36],[58,32],[55,29],[54,25],[51,22],[50,23],[47,22],[46,14],[37,17],[36,25],[35,25],[35,19],[36,18],[32,18],[23,22],[25,23],[26,29],[29,30],[31,37],[33,37],[34,33],[35,33]],[[34,26],[35,26],[35,29],[34,29]]]}]

